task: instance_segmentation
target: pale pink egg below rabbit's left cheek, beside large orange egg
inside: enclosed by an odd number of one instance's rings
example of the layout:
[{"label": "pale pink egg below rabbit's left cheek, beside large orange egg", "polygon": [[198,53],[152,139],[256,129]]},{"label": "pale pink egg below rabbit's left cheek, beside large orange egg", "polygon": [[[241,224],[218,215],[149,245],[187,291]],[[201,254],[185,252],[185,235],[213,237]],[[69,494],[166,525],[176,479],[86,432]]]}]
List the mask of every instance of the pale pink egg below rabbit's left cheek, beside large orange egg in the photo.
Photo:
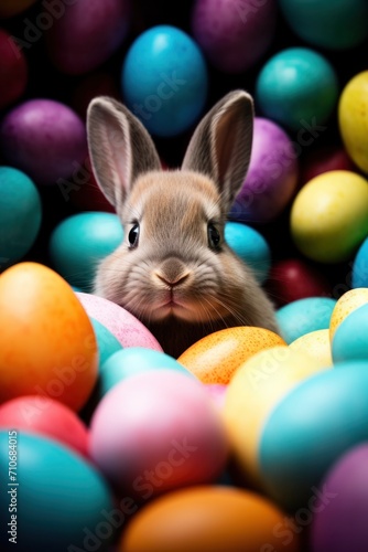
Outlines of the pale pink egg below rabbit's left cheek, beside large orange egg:
[{"label": "pale pink egg below rabbit's left cheek, beside large orange egg", "polygon": [[76,291],[87,315],[102,323],[122,347],[145,347],[162,352],[154,336],[125,308],[97,295]]}]

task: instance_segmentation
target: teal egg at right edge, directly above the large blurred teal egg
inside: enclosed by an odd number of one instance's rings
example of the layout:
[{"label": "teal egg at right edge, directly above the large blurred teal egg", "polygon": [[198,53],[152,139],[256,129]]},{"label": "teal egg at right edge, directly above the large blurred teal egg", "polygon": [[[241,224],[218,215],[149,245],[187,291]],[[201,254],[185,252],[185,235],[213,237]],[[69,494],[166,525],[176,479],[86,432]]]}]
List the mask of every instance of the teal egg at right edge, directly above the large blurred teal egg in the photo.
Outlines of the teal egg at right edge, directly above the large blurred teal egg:
[{"label": "teal egg at right edge, directly above the large blurred teal egg", "polygon": [[334,364],[348,360],[368,362],[368,305],[353,310],[337,327],[332,342]]}]

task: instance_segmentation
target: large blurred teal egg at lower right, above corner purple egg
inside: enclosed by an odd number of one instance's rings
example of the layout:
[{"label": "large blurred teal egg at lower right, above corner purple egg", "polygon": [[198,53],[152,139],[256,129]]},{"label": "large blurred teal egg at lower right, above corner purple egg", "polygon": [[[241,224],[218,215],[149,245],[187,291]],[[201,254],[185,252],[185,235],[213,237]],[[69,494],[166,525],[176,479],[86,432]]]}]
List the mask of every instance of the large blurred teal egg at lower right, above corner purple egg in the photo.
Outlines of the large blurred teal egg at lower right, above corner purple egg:
[{"label": "large blurred teal egg at lower right, above corner purple egg", "polygon": [[280,506],[321,505],[326,471],[368,439],[367,389],[368,361],[345,362],[303,381],[272,410],[259,440],[259,471]]}]

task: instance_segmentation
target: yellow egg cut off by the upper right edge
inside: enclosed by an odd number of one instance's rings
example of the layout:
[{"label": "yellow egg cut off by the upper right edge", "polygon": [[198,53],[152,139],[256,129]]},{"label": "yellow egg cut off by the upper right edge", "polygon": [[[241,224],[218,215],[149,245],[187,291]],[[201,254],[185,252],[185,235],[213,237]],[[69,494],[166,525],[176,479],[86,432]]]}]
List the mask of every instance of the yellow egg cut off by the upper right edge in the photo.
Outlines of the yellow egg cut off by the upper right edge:
[{"label": "yellow egg cut off by the upper right edge", "polygon": [[[365,9],[368,11],[368,6]],[[338,103],[338,125],[345,148],[353,161],[366,173],[368,173],[367,91],[368,71],[364,71],[345,85]]]}]

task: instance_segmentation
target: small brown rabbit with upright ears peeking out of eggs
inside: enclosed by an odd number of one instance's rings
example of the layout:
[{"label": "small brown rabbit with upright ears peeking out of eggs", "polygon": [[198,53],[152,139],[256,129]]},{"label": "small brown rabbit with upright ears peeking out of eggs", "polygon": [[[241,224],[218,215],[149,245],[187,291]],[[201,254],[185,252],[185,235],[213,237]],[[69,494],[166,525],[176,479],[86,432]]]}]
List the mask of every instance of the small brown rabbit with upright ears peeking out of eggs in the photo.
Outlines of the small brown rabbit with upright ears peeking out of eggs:
[{"label": "small brown rabbit with upright ears peeking out of eggs", "polygon": [[181,169],[162,170],[125,105],[98,96],[87,109],[91,167],[125,232],[98,265],[93,293],[134,315],[174,358],[229,327],[278,332],[270,298],[224,238],[249,166],[253,116],[248,93],[228,93],[197,125]]}]

